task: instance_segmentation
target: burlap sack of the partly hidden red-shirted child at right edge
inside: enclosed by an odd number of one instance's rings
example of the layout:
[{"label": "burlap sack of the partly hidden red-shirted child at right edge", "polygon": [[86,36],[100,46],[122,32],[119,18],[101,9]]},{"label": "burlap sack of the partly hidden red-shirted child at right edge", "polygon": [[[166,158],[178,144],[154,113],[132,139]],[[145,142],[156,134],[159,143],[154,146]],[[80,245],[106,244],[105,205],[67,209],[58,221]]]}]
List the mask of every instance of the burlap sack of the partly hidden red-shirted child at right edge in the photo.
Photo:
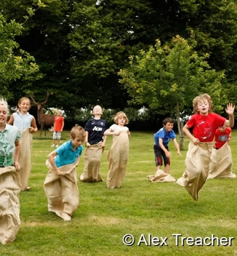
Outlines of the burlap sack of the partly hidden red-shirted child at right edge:
[{"label": "burlap sack of the partly hidden red-shirted child at right edge", "polygon": [[225,143],[218,150],[213,148],[210,156],[210,171],[208,179],[214,178],[236,178],[232,173],[232,156],[228,143]]}]

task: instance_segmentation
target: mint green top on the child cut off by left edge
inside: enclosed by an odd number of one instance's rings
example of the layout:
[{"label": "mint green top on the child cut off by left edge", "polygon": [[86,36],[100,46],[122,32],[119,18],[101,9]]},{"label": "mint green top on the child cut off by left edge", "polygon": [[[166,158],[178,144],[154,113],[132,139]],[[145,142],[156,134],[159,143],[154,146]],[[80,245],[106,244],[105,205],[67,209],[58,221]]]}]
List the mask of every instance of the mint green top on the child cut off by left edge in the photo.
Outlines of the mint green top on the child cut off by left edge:
[{"label": "mint green top on the child cut off by left edge", "polygon": [[0,131],[0,167],[13,165],[15,141],[21,137],[18,128],[6,124],[4,131]]}]

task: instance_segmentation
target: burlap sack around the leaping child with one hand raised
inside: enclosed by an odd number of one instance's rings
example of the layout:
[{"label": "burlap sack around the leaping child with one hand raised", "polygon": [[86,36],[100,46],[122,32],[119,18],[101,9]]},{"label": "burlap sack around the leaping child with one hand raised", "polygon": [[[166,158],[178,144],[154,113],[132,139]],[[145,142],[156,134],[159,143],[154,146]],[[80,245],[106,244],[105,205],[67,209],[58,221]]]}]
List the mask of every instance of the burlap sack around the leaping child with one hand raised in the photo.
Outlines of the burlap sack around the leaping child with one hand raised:
[{"label": "burlap sack around the leaping child with one hand raised", "polygon": [[186,170],[176,182],[176,184],[185,187],[196,201],[198,201],[199,191],[208,176],[212,148],[212,142],[201,142],[195,146],[190,141],[185,160]]}]

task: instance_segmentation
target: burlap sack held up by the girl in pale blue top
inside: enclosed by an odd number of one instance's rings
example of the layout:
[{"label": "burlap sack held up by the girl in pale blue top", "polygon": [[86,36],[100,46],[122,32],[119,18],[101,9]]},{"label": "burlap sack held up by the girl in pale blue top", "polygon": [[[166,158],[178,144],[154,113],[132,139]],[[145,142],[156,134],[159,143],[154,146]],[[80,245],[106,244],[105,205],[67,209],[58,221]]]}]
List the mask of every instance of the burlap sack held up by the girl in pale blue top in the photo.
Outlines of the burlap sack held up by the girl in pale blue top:
[{"label": "burlap sack held up by the girl in pale blue top", "polygon": [[29,128],[20,130],[20,155],[19,155],[19,176],[21,183],[21,190],[28,190],[29,176],[31,173],[31,149],[32,149],[32,133]]}]

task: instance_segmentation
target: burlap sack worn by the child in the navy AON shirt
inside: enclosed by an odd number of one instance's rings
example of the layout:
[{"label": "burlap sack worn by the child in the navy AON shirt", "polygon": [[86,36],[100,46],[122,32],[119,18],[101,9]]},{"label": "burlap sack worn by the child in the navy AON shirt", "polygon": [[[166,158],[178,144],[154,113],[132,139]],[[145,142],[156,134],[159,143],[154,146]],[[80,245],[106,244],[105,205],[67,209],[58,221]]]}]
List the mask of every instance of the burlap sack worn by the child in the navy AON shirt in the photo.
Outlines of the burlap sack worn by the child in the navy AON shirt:
[{"label": "burlap sack worn by the child in the navy AON shirt", "polygon": [[103,179],[100,176],[101,156],[104,152],[104,147],[101,147],[102,142],[86,147],[84,153],[84,171],[80,176],[83,182],[100,182]]}]

